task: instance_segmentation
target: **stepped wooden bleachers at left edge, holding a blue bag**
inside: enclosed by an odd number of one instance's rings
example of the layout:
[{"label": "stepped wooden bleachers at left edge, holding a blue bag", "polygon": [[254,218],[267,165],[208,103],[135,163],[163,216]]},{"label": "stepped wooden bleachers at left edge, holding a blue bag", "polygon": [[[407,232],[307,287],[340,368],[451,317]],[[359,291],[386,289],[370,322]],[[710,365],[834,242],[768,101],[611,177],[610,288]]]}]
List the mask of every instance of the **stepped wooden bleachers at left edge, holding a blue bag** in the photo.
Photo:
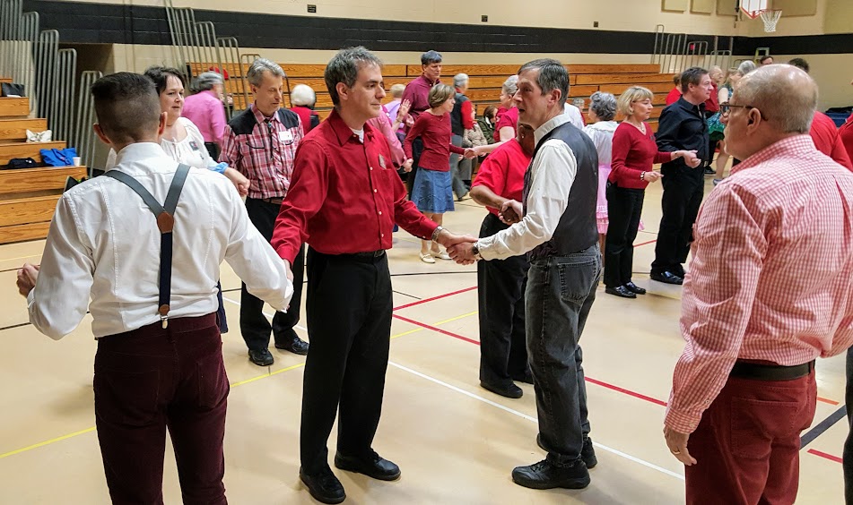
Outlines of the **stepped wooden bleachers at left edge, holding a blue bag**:
[{"label": "stepped wooden bleachers at left edge, holding a blue bag", "polygon": [[3,169],[11,158],[40,163],[39,150],[65,148],[62,141],[26,143],[27,130],[48,128],[46,119],[29,114],[29,98],[0,98],[0,244],[47,236],[66,178],[86,175],[86,167]]}]

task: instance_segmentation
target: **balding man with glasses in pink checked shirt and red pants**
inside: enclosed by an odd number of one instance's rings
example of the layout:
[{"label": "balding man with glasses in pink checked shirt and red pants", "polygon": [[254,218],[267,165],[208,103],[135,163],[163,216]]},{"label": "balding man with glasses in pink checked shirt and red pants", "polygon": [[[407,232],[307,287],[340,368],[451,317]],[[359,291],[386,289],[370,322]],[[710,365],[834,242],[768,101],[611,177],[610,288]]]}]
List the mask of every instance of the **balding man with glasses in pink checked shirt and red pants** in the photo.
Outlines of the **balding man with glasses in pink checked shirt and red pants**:
[{"label": "balding man with glasses in pink checked shirt and red pants", "polygon": [[814,359],[853,344],[853,174],[814,148],[817,85],[784,64],[720,104],[744,161],[694,228],[664,434],[687,503],[793,503]]}]

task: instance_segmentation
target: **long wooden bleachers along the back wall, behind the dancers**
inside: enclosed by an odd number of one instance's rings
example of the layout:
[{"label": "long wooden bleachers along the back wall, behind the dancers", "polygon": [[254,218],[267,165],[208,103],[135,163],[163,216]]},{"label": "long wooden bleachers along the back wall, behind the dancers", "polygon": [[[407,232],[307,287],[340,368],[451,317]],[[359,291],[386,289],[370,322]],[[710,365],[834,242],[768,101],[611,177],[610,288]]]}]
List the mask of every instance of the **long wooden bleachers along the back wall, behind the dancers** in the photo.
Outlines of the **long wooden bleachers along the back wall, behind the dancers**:
[{"label": "long wooden bleachers along the back wall, behind the dancers", "polygon": [[[216,64],[189,64],[194,74],[207,71]],[[248,70],[248,65],[226,64],[225,70],[230,77],[239,77]],[[469,76],[467,97],[477,106],[478,114],[489,105],[497,105],[500,96],[500,86],[503,81],[518,72],[518,64],[446,64],[441,73],[444,81],[452,83],[453,75],[467,73]],[[323,81],[325,64],[282,64],[287,74],[285,83],[284,105],[290,107],[289,90],[297,84],[308,84],[317,93],[315,106],[321,119],[325,119],[332,109],[332,99],[326,92],[326,82]],[[644,86],[655,94],[654,105],[663,106],[666,93],[673,88],[673,74],[660,73],[657,64],[568,64],[570,90],[569,99],[588,98],[596,91],[613,93],[618,97],[630,86]],[[397,83],[405,84],[421,75],[421,65],[387,64],[382,70],[386,90]],[[243,96],[243,83],[239,79],[225,81],[225,89],[234,96],[234,106],[238,109],[246,107]],[[249,95],[251,99],[251,95]],[[391,100],[390,93],[387,100]],[[648,123],[657,131],[657,117],[662,107],[652,111]]]}]

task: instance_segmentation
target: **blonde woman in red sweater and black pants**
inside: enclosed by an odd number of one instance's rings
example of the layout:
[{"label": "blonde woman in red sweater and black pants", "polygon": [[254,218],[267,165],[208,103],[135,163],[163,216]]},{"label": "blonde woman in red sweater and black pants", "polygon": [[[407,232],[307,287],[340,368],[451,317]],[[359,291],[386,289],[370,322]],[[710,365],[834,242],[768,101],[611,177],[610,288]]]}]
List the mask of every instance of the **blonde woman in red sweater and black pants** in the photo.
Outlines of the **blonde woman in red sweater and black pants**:
[{"label": "blonde woman in red sweater and black pants", "polygon": [[646,294],[645,289],[631,282],[631,270],[646,186],[663,176],[654,171],[652,164],[675,158],[687,158],[688,165],[699,161],[696,151],[657,150],[655,134],[646,123],[654,108],[652,98],[651,91],[632,86],[622,93],[617,104],[625,120],[614,133],[613,170],[607,178],[607,217],[610,223],[605,243],[605,293],[623,298]]}]

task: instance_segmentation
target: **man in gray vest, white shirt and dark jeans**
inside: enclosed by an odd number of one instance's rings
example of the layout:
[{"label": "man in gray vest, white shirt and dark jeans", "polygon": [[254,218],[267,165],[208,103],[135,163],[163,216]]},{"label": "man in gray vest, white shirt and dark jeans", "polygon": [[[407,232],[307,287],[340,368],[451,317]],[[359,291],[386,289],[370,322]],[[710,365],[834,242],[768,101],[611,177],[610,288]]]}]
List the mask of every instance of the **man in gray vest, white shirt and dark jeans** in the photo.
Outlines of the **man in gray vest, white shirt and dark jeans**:
[{"label": "man in gray vest, white shirt and dark jeans", "polygon": [[458,244],[457,262],[502,260],[527,253],[527,355],[539,415],[537,443],[544,461],[518,466],[512,480],[534,489],[589,485],[596,453],[588,437],[587,389],[580,334],[596,299],[601,253],[596,231],[598,156],[592,141],[563,114],[569,73],[552,59],[518,70],[518,122],[535,128],[536,149],[527,168],[524,204],[507,201],[511,227]]}]

